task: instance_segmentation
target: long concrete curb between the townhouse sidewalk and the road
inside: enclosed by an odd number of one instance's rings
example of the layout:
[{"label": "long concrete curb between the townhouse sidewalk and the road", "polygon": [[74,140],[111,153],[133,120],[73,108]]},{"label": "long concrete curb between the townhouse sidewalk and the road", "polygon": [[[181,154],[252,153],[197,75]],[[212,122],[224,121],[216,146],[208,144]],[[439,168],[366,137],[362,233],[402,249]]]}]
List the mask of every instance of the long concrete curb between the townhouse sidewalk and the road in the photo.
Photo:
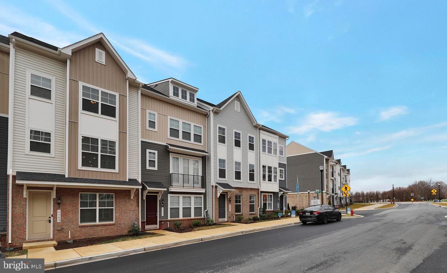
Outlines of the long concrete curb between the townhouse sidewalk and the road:
[{"label": "long concrete curb between the townhouse sidewalk and the road", "polygon": [[177,246],[186,245],[186,244],[206,242],[209,240],[232,237],[232,236],[236,236],[236,235],[253,233],[253,232],[257,232],[257,231],[266,231],[266,230],[274,229],[274,228],[289,227],[289,226],[293,226],[293,225],[296,225],[299,223],[301,223],[301,222],[298,221],[298,222],[294,222],[294,223],[285,223],[285,224],[281,224],[281,225],[277,225],[277,226],[270,226],[270,227],[258,227],[258,228],[253,228],[253,229],[246,230],[246,231],[235,231],[235,232],[230,232],[230,233],[211,235],[211,236],[206,236],[206,237],[196,238],[196,239],[188,239],[188,240],[184,240],[184,241],[172,242],[172,243],[167,243],[167,244],[158,244],[158,245],[148,246],[148,247],[144,247],[144,248],[125,249],[125,250],[120,250],[120,251],[115,251],[115,252],[79,257],[79,258],[74,258],[74,259],[69,259],[69,260],[48,262],[48,263],[45,263],[45,270],[46,269],[55,269],[55,268],[59,268],[59,267],[66,267],[66,266],[70,266],[70,265],[79,265],[79,264],[84,264],[87,262],[93,262],[93,261],[97,261],[97,260],[106,260],[106,259],[116,258],[116,257],[120,257],[120,256],[143,253],[143,252],[154,251],[154,250],[159,250],[159,249],[164,249],[164,248],[172,248],[172,247],[177,247]]}]

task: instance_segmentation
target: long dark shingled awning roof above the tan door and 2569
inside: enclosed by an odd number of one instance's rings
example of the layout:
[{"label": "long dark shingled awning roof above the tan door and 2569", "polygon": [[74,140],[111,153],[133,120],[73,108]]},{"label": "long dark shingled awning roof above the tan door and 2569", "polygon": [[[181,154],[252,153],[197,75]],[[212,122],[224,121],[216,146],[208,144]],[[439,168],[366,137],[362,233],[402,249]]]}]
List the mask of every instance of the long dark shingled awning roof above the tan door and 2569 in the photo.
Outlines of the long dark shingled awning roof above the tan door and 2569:
[{"label": "long dark shingled awning roof above the tan door and 2569", "polygon": [[29,181],[54,181],[54,182],[71,182],[71,183],[93,183],[93,184],[110,184],[110,185],[129,185],[139,186],[140,183],[136,179],[129,181],[121,180],[105,180],[105,179],[89,179],[77,177],[65,177],[63,174],[46,173],[46,172],[17,172],[17,180]]}]

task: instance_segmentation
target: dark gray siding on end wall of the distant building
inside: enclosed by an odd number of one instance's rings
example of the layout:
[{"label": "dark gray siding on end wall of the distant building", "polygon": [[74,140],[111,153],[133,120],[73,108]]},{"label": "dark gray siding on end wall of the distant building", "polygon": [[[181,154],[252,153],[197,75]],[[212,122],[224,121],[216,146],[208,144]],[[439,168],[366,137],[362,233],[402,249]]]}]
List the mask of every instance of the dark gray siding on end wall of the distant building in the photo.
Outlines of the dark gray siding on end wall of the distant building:
[{"label": "dark gray siding on end wall of the distant building", "polygon": [[323,163],[324,156],[319,153],[287,156],[287,166],[289,167],[287,170],[287,181],[290,181],[289,184],[291,184],[289,189],[292,192],[296,192],[296,185],[292,181],[296,182],[298,176],[299,192],[307,192],[308,189],[311,191],[320,190],[320,165]]}]

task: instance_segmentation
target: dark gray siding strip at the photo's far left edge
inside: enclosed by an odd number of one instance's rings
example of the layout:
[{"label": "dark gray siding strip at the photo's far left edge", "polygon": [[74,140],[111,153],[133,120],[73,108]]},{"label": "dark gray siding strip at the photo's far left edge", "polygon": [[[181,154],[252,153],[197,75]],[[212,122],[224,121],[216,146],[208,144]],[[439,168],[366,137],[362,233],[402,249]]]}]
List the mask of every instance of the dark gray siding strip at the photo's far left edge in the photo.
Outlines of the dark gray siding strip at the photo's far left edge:
[{"label": "dark gray siding strip at the photo's far left edge", "polygon": [[0,233],[6,232],[6,195],[8,187],[8,118],[0,117]]}]

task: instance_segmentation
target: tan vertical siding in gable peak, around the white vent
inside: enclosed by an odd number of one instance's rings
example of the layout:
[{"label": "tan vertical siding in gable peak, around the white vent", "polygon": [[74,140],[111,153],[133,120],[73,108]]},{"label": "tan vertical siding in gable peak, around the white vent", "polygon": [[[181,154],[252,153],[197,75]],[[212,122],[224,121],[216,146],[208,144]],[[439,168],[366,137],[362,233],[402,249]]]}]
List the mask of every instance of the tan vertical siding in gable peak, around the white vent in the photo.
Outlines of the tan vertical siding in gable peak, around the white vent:
[{"label": "tan vertical siding in gable peak, around the white vent", "polygon": [[[95,62],[96,48],[105,51],[105,65]],[[126,73],[101,42],[86,46],[72,53],[70,79],[127,95]]]}]

